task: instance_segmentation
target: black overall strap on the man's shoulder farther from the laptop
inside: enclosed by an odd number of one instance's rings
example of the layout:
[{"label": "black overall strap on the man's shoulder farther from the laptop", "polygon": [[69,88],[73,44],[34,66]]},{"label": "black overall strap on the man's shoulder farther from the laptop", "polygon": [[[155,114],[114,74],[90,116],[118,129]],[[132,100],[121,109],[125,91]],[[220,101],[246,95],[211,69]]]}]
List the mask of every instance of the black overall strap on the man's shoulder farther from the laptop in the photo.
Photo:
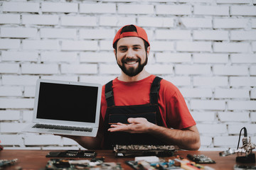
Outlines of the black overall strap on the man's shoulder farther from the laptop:
[{"label": "black overall strap on the man's shoulder farther from the laptop", "polygon": [[159,95],[161,80],[162,80],[161,77],[155,77],[153,83],[151,84],[151,89],[150,89],[150,103],[151,104],[158,103],[158,95]]}]

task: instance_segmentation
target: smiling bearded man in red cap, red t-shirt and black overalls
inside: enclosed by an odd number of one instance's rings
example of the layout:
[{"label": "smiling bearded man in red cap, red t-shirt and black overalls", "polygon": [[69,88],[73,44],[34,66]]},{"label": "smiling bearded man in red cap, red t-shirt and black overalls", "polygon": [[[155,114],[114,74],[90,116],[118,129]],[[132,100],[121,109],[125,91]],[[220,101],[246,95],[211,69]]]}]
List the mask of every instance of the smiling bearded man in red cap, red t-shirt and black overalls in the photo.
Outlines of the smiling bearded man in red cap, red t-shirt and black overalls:
[{"label": "smiling bearded man in red cap, red t-shirt and black overalls", "polygon": [[97,137],[70,137],[87,149],[113,145],[178,145],[196,150],[200,136],[180,91],[146,72],[150,44],[143,28],[121,28],[113,41],[121,75],[102,87]]}]

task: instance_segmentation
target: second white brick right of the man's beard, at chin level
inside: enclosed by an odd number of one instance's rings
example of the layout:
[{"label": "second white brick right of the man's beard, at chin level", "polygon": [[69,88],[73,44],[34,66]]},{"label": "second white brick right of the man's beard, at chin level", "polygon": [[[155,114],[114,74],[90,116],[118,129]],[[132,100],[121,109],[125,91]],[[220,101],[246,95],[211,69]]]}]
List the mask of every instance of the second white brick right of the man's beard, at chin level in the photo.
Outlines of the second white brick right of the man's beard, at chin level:
[{"label": "second white brick right of the man's beard, at chin level", "polygon": [[178,65],[175,66],[176,74],[210,74],[210,65],[193,64],[193,65]]}]

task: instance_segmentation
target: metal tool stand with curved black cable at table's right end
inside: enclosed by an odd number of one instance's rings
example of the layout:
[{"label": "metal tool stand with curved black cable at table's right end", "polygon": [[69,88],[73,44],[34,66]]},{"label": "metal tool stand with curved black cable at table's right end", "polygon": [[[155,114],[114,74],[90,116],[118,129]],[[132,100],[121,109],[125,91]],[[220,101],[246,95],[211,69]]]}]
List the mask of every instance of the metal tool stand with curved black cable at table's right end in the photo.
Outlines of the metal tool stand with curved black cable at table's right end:
[{"label": "metal tool stand with curved black cable at table's right end", "polygon": [[[239,147],[242,130],[244,130],[244,137],[242,138],[242,147]],[[255,154],[252,153],[252,149],[255,149],[255,147],[256,145],[250,142],[250,137],[247,137],[247,130],[244,127],[240,130],[237,149],[228,149],[227,151],[220,152],[219,154],[220,154],[220,157],[225,157],[235,153],[245,154],[244,157],[241,157],[241,156],[236,157],[235,159],[236,162],[255,163]]]}]

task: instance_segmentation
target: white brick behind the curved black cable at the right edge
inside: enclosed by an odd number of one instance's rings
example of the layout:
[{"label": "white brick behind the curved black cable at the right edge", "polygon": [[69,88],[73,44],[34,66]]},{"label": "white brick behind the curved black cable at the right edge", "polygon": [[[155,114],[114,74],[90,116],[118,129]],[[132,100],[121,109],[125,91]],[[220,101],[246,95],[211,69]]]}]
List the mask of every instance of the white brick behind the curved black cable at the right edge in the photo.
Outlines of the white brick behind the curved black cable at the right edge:
[{"label": "white brick behind the curved black cable at the right edge", "polygon": [[[240,134],[240,130],[245,127],[247,130],[247,134],[250,135],[254,135],[255,134],[255,129],[256,126],[255,124],[248,124],[248,123],[238,123],[238,124],[230,124],[228,125],[228,133],[230,135],[239,135]],[[244,131],[242,130],[242,137],[243,137]],[[242,138],[240,139],[242,140]],[[242,146],[242,144],[240,144],[240,146]]]}]

